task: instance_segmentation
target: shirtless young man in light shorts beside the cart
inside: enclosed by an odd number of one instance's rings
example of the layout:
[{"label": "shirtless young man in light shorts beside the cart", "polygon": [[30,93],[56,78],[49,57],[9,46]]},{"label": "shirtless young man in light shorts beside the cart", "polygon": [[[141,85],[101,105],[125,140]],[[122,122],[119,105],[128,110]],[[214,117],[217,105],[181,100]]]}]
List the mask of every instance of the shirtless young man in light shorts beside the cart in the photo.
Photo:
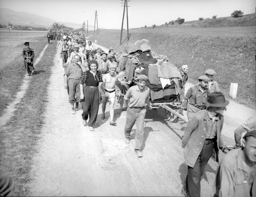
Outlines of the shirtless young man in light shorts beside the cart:
[{"label": "shirtless young man in light shorts beside the cart", "polygon": [[110,125],[116,124],[113,121],[114,117],[114,106],[116,101],[116,80],[118,80],[121,84],[130,84],[131,81],[122,81],[118,74],[116,74],[116,65],[110,64],[109,66],[109,73],[105,74],[102,77],[103,84],[100,86],[102,89],[101,96],[102,96],[102,116],[101,119],[105,119],[105,110],[106,110],[106,104],[107,101],[109,101],[109,113],[110,113]]}]

